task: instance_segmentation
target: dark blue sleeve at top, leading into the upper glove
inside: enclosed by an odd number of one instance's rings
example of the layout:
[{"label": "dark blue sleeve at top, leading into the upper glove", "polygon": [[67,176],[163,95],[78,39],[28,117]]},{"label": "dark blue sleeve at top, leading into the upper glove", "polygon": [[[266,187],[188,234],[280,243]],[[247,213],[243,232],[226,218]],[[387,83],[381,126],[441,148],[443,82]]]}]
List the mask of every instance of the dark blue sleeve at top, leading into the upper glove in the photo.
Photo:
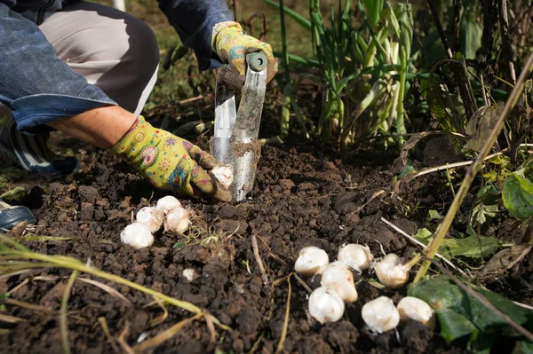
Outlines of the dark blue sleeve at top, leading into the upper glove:
[{"label": "dark blue sleeve at top, leading into the upper glove", "polygon": [[178,32],[181,41],[195,51],[200,71],[222,65],[211,48],[213,27],[233,21],[224,0],[158,0],[159,8]]}]

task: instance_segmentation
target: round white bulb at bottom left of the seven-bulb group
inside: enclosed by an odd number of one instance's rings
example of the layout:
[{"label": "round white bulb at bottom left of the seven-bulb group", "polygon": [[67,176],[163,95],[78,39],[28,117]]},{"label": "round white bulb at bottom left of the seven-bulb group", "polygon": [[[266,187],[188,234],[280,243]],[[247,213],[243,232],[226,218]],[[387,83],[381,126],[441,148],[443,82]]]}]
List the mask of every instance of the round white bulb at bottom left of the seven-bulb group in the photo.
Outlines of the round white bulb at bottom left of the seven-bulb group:
[{"label": "round white bulb at bottom left of the seven-bulb group", "polygon": [[345,310],[340,296],[327,287],[317,287],[309,296],[309,313],[320,323],[338,321]]}]

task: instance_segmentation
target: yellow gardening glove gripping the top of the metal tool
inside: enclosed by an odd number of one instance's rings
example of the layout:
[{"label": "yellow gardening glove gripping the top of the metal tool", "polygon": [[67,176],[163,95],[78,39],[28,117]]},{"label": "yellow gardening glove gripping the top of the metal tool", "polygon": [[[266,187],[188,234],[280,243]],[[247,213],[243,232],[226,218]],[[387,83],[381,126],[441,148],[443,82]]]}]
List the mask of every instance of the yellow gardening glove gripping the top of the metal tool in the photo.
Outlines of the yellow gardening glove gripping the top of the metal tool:
[{"label": "yellow gardening glove gripping the top of the metal tool", "polygon": [[238,22],[220,22],[213,28],[211,46],[219,58],[236,74],[237,89],[243,87],[246,78],[246,54],[263,51],[267,56],[268,71],[267,83],[270,83],[275,74],[275,60],[272,47],[251,35],[246,35]]}]

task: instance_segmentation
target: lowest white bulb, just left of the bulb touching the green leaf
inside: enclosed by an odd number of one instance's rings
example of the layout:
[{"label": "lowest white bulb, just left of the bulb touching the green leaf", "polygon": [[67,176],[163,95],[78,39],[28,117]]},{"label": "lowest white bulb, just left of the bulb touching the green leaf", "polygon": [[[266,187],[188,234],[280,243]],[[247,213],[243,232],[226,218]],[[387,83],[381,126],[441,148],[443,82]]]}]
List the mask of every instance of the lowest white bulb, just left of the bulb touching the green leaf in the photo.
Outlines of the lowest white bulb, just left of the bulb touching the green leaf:
[{"label": "lowest white bulb, just left of the bulb touching the green leaf", "polygon": [[379,296],[362,306],[362,319],[372,332],[384,333],[398,326],[400,314],[393,301],[386,296]]}]

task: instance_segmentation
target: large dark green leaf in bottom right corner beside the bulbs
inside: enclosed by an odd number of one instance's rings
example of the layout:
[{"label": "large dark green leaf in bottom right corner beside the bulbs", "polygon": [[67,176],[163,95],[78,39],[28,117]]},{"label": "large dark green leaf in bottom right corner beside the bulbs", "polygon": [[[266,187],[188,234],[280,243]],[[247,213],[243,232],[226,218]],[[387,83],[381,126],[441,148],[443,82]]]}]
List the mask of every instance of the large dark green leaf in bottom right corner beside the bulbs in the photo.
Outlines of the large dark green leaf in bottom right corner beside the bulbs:
[{"label": "large dark green leaf in bottom right corner beside the bulbs", "polygon": [[[533,311],[523,309],[504,296],[474,287],[474,291],[483,295],[489,303],[503,311],[521,326],[533,325]],[[408,295],[418,297],[428,303],[437,313],[441,325],[441,334],[448,342],[469,335],[470,342],[490,335],[489,342],[476,342],[479,348],[486,348],[494,343],[498,336],[517,336],[513,328],[494,311],[458,287],[451,279],[437,276],[434,279],[410,284]]]}]

